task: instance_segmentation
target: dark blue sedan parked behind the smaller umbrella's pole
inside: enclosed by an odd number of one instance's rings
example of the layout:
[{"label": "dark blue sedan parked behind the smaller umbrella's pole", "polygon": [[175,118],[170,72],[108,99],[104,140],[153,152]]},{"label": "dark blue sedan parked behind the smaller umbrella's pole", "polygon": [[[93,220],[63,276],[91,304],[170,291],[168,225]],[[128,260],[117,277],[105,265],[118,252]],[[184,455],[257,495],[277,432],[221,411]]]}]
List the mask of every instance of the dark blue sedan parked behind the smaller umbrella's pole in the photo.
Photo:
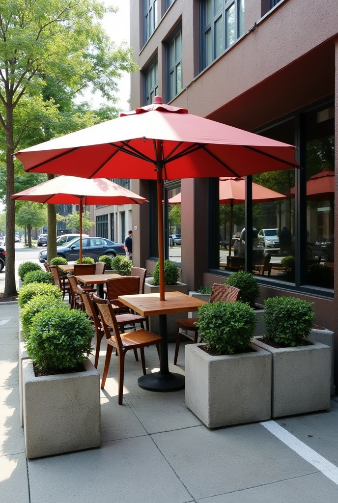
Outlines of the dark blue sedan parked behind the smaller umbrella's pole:
[{"label": "dark blue sedan parked behind the smaller umbrella's pole", "polygon": [[[67,261],[75,261],[79,258],[80,240],[75,238],[72,241],[64,243],[62,246],[57,246],[57,256],[64,257]],[[124,244],[115,243],[103,237],[85,237],[82,238],[82,257],[92,257],[95,261],[101,255],[108,255],[114,259],[117,255],[126,255]],[[41,250],[39,253],[39,261],[45,262],[47,259],[47,250]]]}]

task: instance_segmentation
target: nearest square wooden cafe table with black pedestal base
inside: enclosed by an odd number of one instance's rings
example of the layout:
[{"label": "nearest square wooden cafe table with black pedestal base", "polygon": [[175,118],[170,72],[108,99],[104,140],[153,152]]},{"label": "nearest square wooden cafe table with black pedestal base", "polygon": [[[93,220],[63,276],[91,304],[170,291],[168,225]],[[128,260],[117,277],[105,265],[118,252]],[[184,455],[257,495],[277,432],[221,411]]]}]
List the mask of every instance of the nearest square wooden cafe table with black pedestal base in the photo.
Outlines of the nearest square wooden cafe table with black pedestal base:
[{"label": "nearest square wooden cafe table with black pedestal base", "polygon": [[120,302],[136,311],[141,316],[157,316],[159,318],[160,370],[159,372],[141,376],[138,385],[149,391],[176,391],[185,386],[185,377],[181,374],[169,372],[168,340],[166,330],[166,315],[197,311],[206,302],[195,299],[181,292],[165,292],[165,300],[159,299],[159,293],[141,295],[121,295]]}]

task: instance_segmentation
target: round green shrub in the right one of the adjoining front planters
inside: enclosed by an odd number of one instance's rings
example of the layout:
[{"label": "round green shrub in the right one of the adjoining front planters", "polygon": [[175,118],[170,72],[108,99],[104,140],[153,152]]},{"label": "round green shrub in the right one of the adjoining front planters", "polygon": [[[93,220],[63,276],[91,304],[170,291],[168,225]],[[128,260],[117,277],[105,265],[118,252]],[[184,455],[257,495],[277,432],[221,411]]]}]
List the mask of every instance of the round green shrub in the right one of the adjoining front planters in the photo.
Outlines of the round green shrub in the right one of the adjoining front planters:
[{"label": "round green shrub in the right one of the adjoining front planters", "polygon": [[313,302],[295,297],[270,297],[265,301],[265,336],[285,346],[303,346],[314,318]]}]

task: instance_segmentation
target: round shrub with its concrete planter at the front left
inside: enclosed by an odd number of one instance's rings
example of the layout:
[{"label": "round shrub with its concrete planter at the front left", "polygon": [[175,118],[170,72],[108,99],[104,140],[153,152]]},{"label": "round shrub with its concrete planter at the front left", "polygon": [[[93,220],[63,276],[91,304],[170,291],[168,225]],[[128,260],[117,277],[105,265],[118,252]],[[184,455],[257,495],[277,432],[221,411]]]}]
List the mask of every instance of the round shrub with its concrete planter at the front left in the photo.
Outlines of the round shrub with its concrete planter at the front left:
[{"label": "round shrub with its concrete planter at the front left", "polygon": [[35,314],[23,361],[27,458],[100,445],[100,374],[88,356],[87,315],[54,307]]}]

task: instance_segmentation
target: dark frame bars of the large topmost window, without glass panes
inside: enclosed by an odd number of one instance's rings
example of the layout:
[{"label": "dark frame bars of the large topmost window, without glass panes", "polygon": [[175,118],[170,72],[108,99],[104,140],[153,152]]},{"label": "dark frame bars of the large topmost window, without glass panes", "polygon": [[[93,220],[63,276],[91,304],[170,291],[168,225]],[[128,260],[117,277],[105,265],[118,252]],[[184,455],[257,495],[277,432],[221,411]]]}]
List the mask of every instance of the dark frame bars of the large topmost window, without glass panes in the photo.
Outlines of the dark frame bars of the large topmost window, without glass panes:
[{"label": "dark frame bars of the large topmost window, without glass panes", "polygon": [[[212,64],[218,57],[220,57],[224,52],[232,47],[232,45],[238,40],[243,33],[240,33],[240,2],[241,0],[223,0],[223,6],[221,10],[213,15],[210,23],[206,24],[206,2],[207,0],[200,0],[200,45],[201,45],[201,71],[207,68],[210,64]],[[212,2],[212,11],[215,12],[215,0],[211,0]],[[235,40],[231,45],[227,46],[227,25],[226,25],[226,13],[229,11],[231,6],[235,6]],[[245,7],[244,7],[244,15],[245,15]],[[222,18],[223,25],[223,49],[220,54],[216,56],[216,30],[215,24],[219,19]],[[207,44],[206,44],[206,35],[211,31],[211,40],[212,40],[212,49],[211,49],[211,61],[209,64],[207,63]]]}]

